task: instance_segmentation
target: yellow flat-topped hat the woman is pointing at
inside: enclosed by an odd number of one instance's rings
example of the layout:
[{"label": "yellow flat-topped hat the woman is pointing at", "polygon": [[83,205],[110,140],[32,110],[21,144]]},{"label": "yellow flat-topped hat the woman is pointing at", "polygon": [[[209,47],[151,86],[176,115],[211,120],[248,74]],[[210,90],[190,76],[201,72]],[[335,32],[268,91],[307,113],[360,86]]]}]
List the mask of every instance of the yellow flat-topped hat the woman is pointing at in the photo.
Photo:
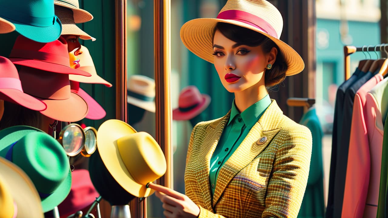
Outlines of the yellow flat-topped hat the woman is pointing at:
[{"label": "yellow flat-topped hat the woman is pointing at", "polygon": [[150,196],[146,188],[166,172],[166,159],[158,143],[146,132],[109,119],[97,131],[97,149],[113,178],[136,197]]}]

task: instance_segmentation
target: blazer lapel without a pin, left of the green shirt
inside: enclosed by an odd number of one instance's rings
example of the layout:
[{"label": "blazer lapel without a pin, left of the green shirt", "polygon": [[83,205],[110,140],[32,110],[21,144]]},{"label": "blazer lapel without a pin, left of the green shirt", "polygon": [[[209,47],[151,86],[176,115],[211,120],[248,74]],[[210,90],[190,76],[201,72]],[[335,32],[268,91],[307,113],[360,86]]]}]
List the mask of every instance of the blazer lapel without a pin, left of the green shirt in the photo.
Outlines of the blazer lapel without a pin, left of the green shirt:
[{"label": "blazer lapel without a pin, left of the green shirt", "polygon": [[[203,147],[201,154],[203,157],[199,159],[198,163],[198,183],[201,188],[201,193],[203,195],[204,202],[206,204],[205,209],[213,211],[211,208],[211,195],[210,195],[210,183],[209,183],[209,173],[210,173],[210,159],[214,153],[215,148],[217,147],[218,141],[220,140],[223,129],[225,128],[226,123],[230,117],[230,111],[220,119],[217,119],[215,122],[211,123],[206,130],[204,131],[206,137],[203,140]],[[201,194],[199,194],[201,195]]]}]

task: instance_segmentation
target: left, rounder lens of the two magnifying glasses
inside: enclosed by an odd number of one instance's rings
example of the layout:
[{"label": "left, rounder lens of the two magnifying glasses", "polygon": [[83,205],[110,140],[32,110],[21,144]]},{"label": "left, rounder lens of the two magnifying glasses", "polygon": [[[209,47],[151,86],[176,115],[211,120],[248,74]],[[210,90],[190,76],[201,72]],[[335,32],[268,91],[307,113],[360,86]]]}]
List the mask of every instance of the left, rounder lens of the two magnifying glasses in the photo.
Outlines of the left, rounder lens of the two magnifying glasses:
[{"label": "left, rounder lens of the two magnifying glasses", "polygon": [[80,153],[83,146],[83,130],[80,126],[69,125],[64,130],[62,145],[68,156],[75,156]]}]

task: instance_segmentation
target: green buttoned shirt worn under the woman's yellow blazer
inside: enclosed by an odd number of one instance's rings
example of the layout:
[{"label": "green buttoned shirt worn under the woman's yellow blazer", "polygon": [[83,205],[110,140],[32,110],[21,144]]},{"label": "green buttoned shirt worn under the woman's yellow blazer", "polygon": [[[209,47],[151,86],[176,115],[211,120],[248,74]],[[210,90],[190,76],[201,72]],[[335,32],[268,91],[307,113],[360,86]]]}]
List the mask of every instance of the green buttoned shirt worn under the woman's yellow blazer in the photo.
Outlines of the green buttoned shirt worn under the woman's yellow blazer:
[{"label": "green buttoned shirt worn under the woman's yellow blazer", "polygon": [[239,113],[234,101],[230,110],[230,118],[222,132],[220,141],[210,159],[210,190],[214,194],[218,171],[223,164],[232,156],[242,140],[263,115],[265,109],[271,104],[269,95],[249,106],[245,111]]}]

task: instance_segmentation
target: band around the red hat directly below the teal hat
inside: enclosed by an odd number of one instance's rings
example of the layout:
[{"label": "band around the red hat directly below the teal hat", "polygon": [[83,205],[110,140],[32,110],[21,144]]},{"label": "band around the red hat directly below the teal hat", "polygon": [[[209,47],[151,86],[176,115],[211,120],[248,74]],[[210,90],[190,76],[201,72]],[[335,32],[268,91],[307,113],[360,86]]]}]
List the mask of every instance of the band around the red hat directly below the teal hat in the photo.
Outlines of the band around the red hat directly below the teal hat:
[{"label": "band around the red hat directly below the teal hat", "polygon": [[9,55],[10,58],[24,58],[31,60],[39,60],[53,64],[60,64],[66,67],[70,67],[69,56],[61,56],[57,54],[40,52],[40,51],[31,51],[31,50],[22,50],[14,48]]}]

